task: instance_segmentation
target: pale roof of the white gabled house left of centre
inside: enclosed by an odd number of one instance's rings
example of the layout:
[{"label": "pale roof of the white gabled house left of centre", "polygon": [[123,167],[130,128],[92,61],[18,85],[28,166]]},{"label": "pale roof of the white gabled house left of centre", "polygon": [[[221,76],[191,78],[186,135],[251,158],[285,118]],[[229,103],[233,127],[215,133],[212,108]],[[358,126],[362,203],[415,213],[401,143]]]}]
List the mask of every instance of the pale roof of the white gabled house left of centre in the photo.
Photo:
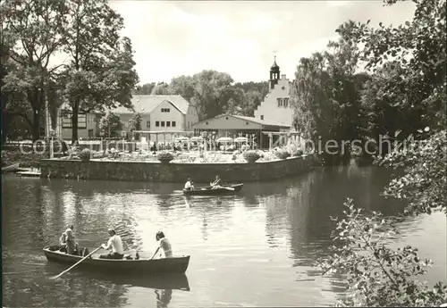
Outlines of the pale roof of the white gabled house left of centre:
[{"label": "pale roof of the white gabled house left of centre", "polygon": [[116,113],[149,113],[152,112],[157,105],[163,101],[169,101],[173,104],[181,113],[186,114],[188,112],[188,106],[190,105],[186,99],[181,96],[133,96],[132,99],[133,109],[131,111],[124,107],[117,107],[113,110]]}]

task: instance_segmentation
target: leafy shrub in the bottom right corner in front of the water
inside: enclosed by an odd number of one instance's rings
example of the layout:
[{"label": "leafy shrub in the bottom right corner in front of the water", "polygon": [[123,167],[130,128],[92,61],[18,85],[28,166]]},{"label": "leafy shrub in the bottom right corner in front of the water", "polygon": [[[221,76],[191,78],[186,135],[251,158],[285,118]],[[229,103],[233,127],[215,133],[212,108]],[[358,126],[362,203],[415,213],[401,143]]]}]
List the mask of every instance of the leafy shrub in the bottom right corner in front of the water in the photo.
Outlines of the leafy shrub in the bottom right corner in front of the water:
[{"label": "leafy shrub in the bottom right corner in front of the water", "polygon": [[341,272],[349,282],[348,306],[439,306],[447,301],[447,287],[438,283],[433,289],[414,280],[426,273],[430,260],[420,260],[417,249],[405,246],[392,250],[387,240],[396,234],[392,221],[379,212],[367,216],[356,209],[351,199],[345,203],[346,218],[334,219],[337,227],[333,254],[320,266],[326,274]]}]

